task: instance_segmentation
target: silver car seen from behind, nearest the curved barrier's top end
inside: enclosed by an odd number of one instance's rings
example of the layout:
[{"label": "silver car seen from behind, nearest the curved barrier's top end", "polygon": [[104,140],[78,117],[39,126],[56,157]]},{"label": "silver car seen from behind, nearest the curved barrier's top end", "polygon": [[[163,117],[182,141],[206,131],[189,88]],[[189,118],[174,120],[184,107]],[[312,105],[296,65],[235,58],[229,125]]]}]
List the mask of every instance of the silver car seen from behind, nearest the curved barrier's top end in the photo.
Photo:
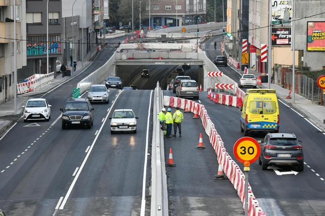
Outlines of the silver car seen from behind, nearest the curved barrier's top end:
[{"label": "silver car seen from behind, nearest the curved barrier's top end", "polygon": [[198,96],[198,85],[195,80],[181,80],[176,87],[176,97],[194,97],[196,100]]}]

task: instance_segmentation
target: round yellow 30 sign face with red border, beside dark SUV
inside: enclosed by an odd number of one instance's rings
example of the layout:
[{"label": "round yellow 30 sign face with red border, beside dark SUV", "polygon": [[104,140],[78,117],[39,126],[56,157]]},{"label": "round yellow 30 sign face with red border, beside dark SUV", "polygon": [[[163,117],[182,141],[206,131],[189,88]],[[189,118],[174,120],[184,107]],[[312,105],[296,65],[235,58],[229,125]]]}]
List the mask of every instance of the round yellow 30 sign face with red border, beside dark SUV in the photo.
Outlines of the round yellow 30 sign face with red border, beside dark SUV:
[{"label": "round yellow 30 sign face with red border, beside dark SUV", "polygon": [[241,163],[245,161],[253,163],[260,157],[260,144],[252,137],[242,137],[234,144],[233,154]]}]

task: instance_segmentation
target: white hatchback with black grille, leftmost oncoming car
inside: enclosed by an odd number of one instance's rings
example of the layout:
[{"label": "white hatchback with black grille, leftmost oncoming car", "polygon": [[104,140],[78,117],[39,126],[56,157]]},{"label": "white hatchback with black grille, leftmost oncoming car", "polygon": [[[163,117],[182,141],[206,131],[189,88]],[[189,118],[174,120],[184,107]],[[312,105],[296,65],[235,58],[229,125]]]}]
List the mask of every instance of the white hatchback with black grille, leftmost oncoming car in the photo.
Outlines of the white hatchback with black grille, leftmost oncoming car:
[{"label": "white hatchback with black grille, leftmost oncoming car", "polygon": [[49,121],[51,119],[51,105],[49,105],[46,99],[34,98],[28,100],[24,108],[24,122],[27,120],[39,120],[45,119]]}]

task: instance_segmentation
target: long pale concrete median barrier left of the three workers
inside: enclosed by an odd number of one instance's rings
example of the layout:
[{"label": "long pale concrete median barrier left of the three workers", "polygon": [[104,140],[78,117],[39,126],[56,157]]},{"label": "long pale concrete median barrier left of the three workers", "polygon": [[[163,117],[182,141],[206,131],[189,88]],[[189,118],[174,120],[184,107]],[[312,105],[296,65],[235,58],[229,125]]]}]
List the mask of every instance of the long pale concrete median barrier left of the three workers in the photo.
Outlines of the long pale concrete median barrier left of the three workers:
[{"label": "long pale concrete median barrier left of the three workers", "polygon": [[151,216],[168,216],[167,178],[165,169],[163,132],[158,114],[163,107],[162,89],[155,88],[151,155]]}]

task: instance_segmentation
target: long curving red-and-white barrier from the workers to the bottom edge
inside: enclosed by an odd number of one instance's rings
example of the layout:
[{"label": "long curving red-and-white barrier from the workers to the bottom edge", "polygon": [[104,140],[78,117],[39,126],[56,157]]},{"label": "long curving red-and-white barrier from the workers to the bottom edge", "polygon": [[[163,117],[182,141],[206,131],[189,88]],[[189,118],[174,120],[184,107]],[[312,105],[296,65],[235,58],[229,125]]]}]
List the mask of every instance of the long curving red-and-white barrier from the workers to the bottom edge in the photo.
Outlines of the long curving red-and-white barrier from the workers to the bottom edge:
[{"label": "long curving red-and-white barrier from the workers to the bottom edge", "polygon": [[209,141],[217,155],[218,163],[222,167],[225,175],[233,185],[234,189],[237,191],[238,197],[243,203],[243,208],[245,206],[245,200],[248,199],[249,216],[266,216],[266,214],[260,208],[259,202],[255,198],[250,185],[248,187],[248,197],[245,197],[244,173],[241,171],[237,163],[232,160],[232,158],[227,153],[227,150],[224,146],[224,142],[221,136],[218,134],[217,130],[215,129],[214,124],[211,121],[204,106],[192,100],[175,98],[170,96],[163,96],[163,105],[174,108],[178,107],[181,109],[184,109],[185,106],[189,106],[189,110],[191,112],[194,112],[194,110],[198,110],[197,114],[200,116],[205,133],[209,136]]}]

